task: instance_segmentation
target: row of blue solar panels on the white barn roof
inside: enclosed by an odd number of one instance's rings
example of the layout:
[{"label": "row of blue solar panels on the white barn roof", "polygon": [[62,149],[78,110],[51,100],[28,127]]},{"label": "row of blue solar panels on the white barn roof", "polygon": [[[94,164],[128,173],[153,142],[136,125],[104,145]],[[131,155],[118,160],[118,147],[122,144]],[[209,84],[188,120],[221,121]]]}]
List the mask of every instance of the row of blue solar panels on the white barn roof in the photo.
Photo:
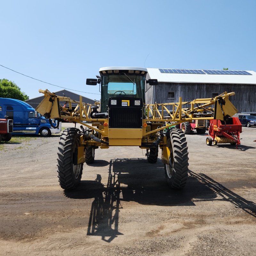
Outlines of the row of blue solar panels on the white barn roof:
[{"label": "row of blue solar panels on the white barn roof", "polygon": [[208,74],[208,75],[252,75],[244,70],[169,69],[159,68],[161,73]]}]

